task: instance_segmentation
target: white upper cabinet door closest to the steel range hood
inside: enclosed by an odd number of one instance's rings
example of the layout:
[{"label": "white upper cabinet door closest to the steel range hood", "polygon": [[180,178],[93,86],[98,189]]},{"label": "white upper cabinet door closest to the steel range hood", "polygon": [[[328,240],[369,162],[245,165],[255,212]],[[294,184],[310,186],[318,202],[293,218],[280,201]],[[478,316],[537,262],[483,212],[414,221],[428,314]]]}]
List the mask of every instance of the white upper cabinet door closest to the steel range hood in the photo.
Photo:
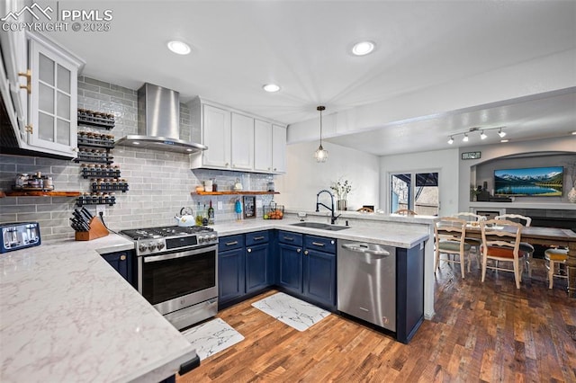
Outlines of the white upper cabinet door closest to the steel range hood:
[{"label": "white upper cabinet door closest to the steel range hood", "polygon": [[230,167],[230,112],[211,105],[202,105],[203,165]]}]

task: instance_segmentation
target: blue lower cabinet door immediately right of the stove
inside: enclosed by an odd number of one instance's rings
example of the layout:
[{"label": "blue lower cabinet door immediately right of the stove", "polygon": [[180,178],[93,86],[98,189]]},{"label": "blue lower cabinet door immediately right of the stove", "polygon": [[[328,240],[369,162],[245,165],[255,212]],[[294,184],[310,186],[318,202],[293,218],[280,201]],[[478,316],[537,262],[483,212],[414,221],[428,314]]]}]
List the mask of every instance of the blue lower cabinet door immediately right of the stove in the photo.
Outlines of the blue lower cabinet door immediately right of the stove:
[{"label": "blue lower cabinet door immediately right of the stove", "polygon": [[218,304],[246,292],[244,286],[244,247],[218,254]]}]

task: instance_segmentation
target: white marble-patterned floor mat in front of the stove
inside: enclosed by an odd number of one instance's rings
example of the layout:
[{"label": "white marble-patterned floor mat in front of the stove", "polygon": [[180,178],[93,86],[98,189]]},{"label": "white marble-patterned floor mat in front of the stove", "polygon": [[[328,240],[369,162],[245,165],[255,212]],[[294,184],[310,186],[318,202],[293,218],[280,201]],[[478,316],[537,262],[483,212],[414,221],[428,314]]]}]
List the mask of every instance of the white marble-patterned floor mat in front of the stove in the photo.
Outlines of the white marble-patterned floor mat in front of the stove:
[{"label": "white marble-patterned floor mat in front of the stove", "polygon": [[220,318],[197,325],[182,334],[196,348],[201,361],[244,340],[242,334]]}]

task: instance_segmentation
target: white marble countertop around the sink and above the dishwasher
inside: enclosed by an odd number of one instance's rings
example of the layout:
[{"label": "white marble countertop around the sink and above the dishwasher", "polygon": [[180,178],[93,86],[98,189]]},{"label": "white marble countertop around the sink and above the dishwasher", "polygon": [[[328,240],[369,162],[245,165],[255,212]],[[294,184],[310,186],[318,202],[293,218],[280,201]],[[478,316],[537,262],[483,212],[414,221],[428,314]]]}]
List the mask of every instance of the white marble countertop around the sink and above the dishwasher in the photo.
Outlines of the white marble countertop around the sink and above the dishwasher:
[{"label": "white marble countertop around the sink and above the dishwasher", "polygon": [[[406,218],[398,218],[396,221],[400,221]],[[409,218],[410,219],[410,218]],[[420,220],[422,218],[419,218]],[[307,221],[323,222],[320,219],[306,219]],[[395,247],[402,247],[410,249],[419,243],[426,241],[428,239],[428,234],[415,233],[414,230],[408,226],[398,225],[395,226],[393,230],[386,230],[378,226],[362,225],[354,226],[351,225],[350,228],[338,231],[323,230],[311,227],[294,227],[292,224],[299,222],[296,218],[286,218],[286,219],[243,219],[242,221],[226,222],[221,224],[216,224],[213,226],[214,230],[218,232],[219,236],[231,236],[235,234],[243,234],[251,231],[257,230],[267,230],[267,229],[281,229],[288,230],[303,234],[311,234],[314,236],[328,236],[330,238],[347,239],[350,241],[359,242],[369,242],[378,245],[391,245]],[[432,220],[426,221],[427,224],[431,224]],[[413,222],[413,223],[424,223],[424,221]],[[342,225],[338,225],[342,226]]]}]

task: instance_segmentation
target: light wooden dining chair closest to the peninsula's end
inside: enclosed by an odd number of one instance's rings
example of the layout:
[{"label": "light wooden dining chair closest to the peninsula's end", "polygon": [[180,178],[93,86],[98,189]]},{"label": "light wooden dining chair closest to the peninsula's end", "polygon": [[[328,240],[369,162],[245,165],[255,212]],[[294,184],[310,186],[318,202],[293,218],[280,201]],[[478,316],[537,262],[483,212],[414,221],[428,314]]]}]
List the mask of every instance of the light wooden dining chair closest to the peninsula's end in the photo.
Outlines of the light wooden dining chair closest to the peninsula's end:
[{"label": "light wooden dining chair closest to the peninsula's end", "polygon": [[[440,267],[440,261],[448,263],[460,263],[460,272],[464,279],[464,263],[466,255],[470,254],[470,244],[466,244],[466,221],[454,217],[440,218],[434,224],[435,239],[435,264],[434,272]],[[441,259],[440,254],[446,254],[446,258]],[[451,254],[457,255],[453,258]],[[468,258],[468,271],[470,271],[470,258]]]}]

